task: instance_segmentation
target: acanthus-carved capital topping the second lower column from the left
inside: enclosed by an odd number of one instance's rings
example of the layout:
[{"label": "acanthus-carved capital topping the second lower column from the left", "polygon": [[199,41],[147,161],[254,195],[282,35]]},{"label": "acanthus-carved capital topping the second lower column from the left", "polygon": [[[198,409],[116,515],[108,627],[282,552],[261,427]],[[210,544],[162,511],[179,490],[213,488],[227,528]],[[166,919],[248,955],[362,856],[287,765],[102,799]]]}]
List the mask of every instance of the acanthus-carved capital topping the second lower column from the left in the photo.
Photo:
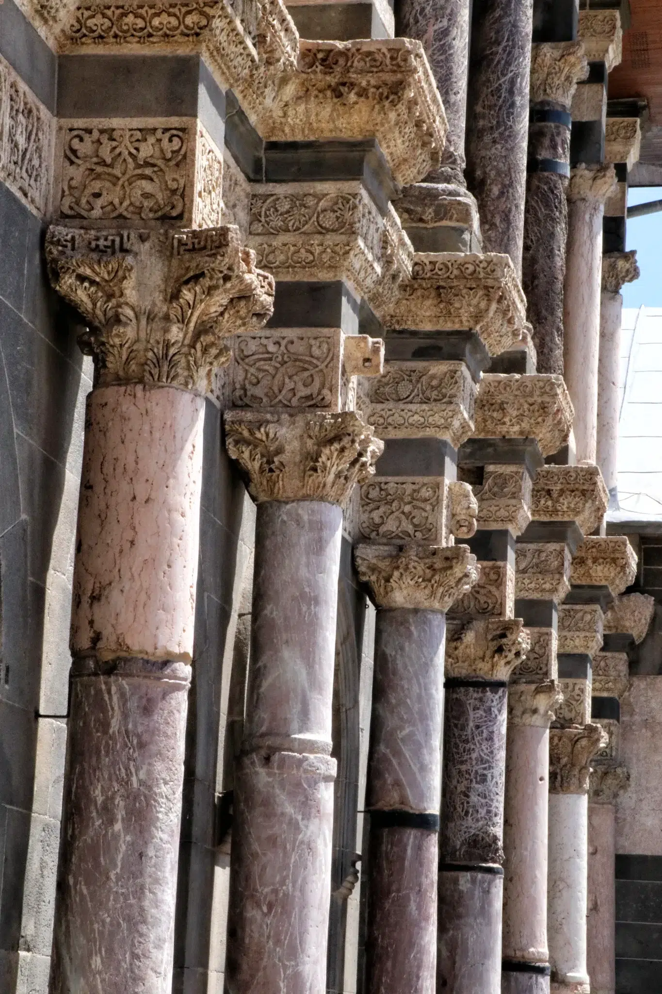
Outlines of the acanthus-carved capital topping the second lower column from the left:
[{"label": "acanthus-carved capital topping the second lower column from the left", "polygon": [[257,502],[316,500],[346,504],[374,473],[383,449],[357,414],[228,411],[225,445]]}]

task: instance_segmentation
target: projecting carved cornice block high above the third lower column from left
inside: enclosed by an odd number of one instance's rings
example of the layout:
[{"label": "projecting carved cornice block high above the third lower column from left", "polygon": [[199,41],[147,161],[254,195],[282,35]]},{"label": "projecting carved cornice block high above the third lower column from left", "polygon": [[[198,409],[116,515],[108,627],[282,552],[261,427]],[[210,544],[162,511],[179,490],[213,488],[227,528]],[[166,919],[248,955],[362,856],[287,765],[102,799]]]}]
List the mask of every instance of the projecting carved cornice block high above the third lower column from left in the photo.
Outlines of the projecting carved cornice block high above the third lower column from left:
[{"label": "projecting carved cornice block high above the third lower column from left", "polygon": [[415,252],[386,317],[391,329],[476,331],[490,355],[520,342],[526,300],[509,255]]}]

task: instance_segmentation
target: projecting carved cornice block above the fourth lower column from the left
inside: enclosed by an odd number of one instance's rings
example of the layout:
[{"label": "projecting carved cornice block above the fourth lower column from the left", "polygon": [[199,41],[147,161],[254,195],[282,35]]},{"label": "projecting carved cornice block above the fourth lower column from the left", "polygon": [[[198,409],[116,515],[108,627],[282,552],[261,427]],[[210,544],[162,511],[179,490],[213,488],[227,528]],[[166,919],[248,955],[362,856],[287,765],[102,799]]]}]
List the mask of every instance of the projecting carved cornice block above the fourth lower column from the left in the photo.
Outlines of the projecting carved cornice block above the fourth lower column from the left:
[{"label": "projecting carved cornice block above the fourth lower column from the left", "polygon": [[562,376],[485,373],[475,400],[474,436],[535,438],[543,455],[568,440],[573,405]]}]

